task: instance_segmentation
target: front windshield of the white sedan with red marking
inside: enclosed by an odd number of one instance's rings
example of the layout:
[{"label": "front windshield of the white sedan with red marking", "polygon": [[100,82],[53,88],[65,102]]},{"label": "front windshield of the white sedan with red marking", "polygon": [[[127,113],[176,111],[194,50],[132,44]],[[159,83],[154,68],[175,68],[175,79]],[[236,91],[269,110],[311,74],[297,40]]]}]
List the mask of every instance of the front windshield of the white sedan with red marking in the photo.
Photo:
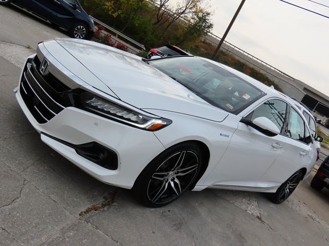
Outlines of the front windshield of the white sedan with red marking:
[{"label": "front windshield of the white sedan with red marking", "polygon": [[198,57],[170,57],[149,63],[227,112],[239,113],[264,95],[246,80]]}]

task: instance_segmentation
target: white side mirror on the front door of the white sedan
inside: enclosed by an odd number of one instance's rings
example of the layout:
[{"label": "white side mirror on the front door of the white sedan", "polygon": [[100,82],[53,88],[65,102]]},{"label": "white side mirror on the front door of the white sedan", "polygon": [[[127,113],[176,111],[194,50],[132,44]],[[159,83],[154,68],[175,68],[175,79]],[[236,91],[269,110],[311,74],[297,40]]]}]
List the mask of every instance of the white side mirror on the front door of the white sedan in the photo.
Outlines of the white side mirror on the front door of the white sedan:
[{"label": "white side mirror on the front door of the white sedan", "polygon": [[280,134],[279,128],[266,117],[258,117],[252,121],[246,118],[242,118],[240,121],[264,133],[265,135],[276,136]]}]

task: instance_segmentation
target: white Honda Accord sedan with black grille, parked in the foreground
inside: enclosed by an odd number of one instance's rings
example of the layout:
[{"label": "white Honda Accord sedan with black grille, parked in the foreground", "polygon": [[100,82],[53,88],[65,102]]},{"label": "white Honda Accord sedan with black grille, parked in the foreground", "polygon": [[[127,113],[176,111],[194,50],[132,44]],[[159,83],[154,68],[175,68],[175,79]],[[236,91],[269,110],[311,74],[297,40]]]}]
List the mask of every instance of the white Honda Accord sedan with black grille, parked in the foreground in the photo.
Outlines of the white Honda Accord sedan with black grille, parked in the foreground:
[{"label": "white Honda Accord sedan with black grille, parked in the foreground", "polygon": [[28,57],[15,93],[42,141],[149,207],[205,188],[267,192],[280,203],[317,157],[290,100],[201,57],[146,60],[53,39]]}]

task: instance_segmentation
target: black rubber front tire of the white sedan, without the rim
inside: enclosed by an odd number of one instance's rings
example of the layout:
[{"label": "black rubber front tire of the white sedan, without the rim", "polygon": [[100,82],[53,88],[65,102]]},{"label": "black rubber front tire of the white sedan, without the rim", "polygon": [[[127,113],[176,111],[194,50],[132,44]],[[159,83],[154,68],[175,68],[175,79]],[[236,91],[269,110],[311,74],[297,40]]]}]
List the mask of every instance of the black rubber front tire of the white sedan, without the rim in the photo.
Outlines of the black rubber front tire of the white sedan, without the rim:
[{"label": "black rubber front tire of the white sedan, without the rim", "polygon": [[[198,166],[197,172],[195,173],[192,181],[190,182],[190,185],[188,187],[186,187],[186,189],[184,191],[182,191],[179,196],[177,196],[175,199],[173,199],[169,202],[152,203],[148,197],[148,186],[149,186],[149,181],[150,181],[152,175],[161,166],[162,162],[165,161],[168,157],[170,157],[171,155],[173,155],[177,152],[185,151],[185,150],[194,152],[197,155],[197,158],[199,161],[199,166]],[[194,144],[190,144],[190,143],[182,143],[182,144],[175,145],[175,146],[163,151],[161,154],[159,154],[157,157],[155,157],[149,163],[149,165],[147,167],[144,168],[144,170],[140,173],[140,175],[136,179],[135,185],[132,190],[134,191],[136,198],[139,200],[139,202],[144,204],[144,206],[151,207],[151,208],[165,206],[165,205],[173,202],[174,200],[176,200],[182,194],[184,194],[186,191],[189,190],[193,181],[198,176],[202,163],[203,163],[202,151],[198,146],[196,146]]]}]

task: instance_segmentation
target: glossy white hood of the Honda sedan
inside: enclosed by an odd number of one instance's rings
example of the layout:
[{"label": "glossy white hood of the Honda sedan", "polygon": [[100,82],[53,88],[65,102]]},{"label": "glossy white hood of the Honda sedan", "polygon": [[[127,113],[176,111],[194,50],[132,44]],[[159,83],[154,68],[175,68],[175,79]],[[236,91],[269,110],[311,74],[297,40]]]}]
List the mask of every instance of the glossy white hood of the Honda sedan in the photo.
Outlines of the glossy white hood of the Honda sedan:
[{"label": "glossy white hood of the Honda sedan", "polygon": [[[145,63],[139,56],[86,40],[55,40],[76,58],[77,64],[95,75],[120,100],[136,108],[166,110],[214,121],[223,121],[228,115]],[[44,45],[47,48],[47,43]],[[65,60],[60,62],[63,64]],[[69,69],[72,64],[64,66]],[[94,82],[84,81],[98,88]]]}]

